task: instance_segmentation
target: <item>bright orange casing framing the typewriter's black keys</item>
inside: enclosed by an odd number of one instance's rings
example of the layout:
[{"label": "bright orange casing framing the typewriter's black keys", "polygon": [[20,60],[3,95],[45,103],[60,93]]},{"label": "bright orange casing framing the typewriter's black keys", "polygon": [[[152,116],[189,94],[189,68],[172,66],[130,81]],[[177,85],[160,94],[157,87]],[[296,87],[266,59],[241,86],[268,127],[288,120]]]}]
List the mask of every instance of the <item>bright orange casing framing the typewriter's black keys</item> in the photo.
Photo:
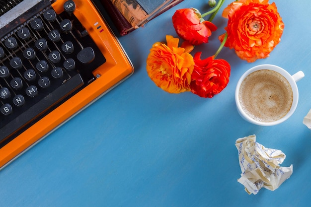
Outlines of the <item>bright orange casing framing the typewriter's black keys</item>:
[{"label": "bright orange casing framing the typewriter's black keys", "polygon": [[[56,13],[64,11],[64,2],[52,3]],[[75,0],[74,15],[100,49],[106,62],[92,73],[96,79],[30,128],[0,148],[0,167],[44,138],[73,115],[99,98],[113,86],[130,76],[134,69],[115,35],[90,0]]]}]

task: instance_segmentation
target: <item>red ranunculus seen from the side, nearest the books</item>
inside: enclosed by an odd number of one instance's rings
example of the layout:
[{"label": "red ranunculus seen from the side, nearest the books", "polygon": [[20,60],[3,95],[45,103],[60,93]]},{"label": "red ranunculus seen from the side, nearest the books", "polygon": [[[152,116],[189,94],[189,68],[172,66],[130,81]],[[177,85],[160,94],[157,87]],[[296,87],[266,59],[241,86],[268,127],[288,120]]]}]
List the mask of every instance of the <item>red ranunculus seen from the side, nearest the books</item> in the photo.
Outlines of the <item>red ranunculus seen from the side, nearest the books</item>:
[{"label": "red ranunculus seen from the side, nearest the books", "polygon": [[209,36],[217,29],[215,24],[205,21],[195,8],[176,10],[172,22],[178,36],[192,45],[207,43]]}]

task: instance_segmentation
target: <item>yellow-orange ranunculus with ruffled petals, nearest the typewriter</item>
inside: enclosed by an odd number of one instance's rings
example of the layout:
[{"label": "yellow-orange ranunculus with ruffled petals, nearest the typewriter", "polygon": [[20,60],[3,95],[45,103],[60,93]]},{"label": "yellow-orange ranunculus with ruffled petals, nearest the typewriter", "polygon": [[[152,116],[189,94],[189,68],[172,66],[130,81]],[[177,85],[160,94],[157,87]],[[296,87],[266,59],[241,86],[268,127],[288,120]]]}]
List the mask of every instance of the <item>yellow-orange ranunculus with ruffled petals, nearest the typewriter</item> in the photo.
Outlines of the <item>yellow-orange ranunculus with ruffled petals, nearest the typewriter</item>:
[{"label": "yellow-orange ranunculus with ruffled petals, nearest the typewriter", "polygon": [[[169,93],[190,91],[193,46],[185,42],[178,47],[179,39],[166,35],[167,44],[156,42],[147,58],[147,72],[158,87]],[[187,45],[188,44],[188,45]]]}]

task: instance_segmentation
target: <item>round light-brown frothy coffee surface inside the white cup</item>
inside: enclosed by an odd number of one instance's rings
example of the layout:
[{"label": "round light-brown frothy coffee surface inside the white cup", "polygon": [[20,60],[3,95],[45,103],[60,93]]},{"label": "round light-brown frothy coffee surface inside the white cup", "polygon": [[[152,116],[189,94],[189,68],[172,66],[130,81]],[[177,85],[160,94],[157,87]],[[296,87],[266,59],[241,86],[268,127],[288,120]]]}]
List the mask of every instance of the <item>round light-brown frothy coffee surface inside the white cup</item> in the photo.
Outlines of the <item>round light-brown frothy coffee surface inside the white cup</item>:
[{"label": "round light-brown frothy coffee surface inside the white cup", "polygon": [[243,111],[260,122],[281,119],[293,103],[293,91],[288,80],[268,69],[247,75],[240,85],[238,96]]}]

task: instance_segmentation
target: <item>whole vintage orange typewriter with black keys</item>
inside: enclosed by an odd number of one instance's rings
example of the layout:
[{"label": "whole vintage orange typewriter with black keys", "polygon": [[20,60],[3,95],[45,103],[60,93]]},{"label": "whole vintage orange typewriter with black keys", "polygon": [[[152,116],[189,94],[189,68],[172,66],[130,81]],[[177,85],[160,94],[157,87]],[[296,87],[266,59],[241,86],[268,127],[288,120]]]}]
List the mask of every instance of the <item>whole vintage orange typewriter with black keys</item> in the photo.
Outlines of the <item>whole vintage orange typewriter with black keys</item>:
[{"label": "whole vintage orange typewriter with black keys", "polygon": [[0,0],[0,167],[134,69],[90,0]]}]

